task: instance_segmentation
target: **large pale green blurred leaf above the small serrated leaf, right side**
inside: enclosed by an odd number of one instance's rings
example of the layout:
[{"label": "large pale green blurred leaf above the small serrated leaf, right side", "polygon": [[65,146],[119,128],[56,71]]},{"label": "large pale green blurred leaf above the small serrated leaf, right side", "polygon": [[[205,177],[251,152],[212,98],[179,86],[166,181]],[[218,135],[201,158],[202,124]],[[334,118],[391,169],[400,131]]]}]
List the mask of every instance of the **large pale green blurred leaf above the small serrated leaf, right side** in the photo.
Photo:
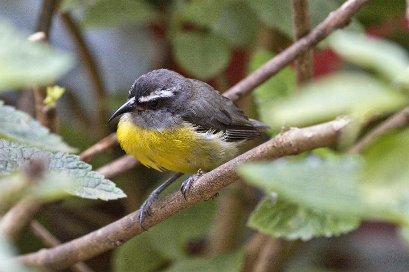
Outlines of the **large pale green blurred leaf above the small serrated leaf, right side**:
[{"label": "large pale green blurred leaf above the small serrated leaf, right side", "polygon": [[365,175],[368,169],[376,166],[379,164],[369,160],[364,162],[356,156],[325,160],[306,157],[247,164],[239,168],[239,172],[249,183],[262,187],[267,193],[277,192],[282,200],[308,209],[339,217],[379,219],[408,225],[409,183],[406,181],[409,171],[400,170],[406,175],[404,181],[382,177],[379,182]]}]

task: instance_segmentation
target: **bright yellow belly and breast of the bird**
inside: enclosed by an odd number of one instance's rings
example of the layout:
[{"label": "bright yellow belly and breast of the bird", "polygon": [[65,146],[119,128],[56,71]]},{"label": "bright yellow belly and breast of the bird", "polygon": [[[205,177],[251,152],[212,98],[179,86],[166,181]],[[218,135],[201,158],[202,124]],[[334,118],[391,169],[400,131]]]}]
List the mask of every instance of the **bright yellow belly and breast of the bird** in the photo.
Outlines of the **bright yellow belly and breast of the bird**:
[{"label": "bright yellow belly and breast of the bird", "polygon": [[189,123],[157,131],[137,127],[128,118],[120,121],[117,137],[122,149],[142,164],[183,173],[216,168],[234,158],[238,145],[224,141],[221,133],[197,133]]}]

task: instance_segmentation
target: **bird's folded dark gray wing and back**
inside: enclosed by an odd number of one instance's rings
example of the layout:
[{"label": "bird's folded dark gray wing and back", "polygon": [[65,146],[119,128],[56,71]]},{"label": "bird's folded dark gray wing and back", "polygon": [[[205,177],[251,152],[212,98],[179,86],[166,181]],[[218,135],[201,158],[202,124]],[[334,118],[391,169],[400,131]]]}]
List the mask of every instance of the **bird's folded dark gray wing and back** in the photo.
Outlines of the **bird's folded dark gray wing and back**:
[{"label": "bird's folded dark gray wing and back", "polygon": [[244,112],[229,98],[220,95],[210,85],[191,80],[197,96],[188,114],[182,118],[197,126],[199,131],[220,132],[226,134],[227,141],[255,139],[260,131]]}]

